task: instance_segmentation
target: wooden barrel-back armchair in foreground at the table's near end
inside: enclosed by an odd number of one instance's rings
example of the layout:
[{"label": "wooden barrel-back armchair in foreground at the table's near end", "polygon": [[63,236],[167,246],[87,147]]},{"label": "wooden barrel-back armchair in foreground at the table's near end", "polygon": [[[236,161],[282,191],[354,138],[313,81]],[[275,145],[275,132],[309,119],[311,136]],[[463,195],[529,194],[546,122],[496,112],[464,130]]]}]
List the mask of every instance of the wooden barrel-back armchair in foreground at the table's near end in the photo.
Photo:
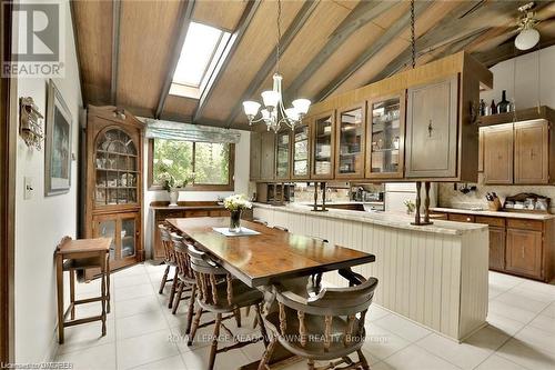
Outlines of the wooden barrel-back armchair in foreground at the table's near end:
[{"label": "wooden barrel-back armchair in foreground at the table's near end", "polygon": [[[278,342],[290,352],[307,359],[310,370],[370,369],[362,353],[366,336],[364,320],[377,286],[377,279],[365,280],[351,270],[342,270],[351,287],[324,288],[316,297],[310,297],[301,284],[275,284],[273,291],[278,310],[264,321],[272,333],[259,370],[266,364]],[[359,360],[349,356],[356,352]],[[333,361],[332,361],[333,360]],[[314,361],[330,361],[315,367]]]}]

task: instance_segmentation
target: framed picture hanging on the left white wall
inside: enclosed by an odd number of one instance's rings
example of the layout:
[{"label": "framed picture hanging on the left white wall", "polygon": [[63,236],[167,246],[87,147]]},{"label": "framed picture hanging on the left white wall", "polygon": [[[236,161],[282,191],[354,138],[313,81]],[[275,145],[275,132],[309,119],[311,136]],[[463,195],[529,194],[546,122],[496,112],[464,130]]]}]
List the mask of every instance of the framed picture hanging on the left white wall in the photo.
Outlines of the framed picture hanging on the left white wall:
[{"label": "framed picture hanging on the left white wall", "polygon": [[52,80],[47,91],[44,143],[44,196],[65,193],[71,187],[72,119],[63,97]]}]

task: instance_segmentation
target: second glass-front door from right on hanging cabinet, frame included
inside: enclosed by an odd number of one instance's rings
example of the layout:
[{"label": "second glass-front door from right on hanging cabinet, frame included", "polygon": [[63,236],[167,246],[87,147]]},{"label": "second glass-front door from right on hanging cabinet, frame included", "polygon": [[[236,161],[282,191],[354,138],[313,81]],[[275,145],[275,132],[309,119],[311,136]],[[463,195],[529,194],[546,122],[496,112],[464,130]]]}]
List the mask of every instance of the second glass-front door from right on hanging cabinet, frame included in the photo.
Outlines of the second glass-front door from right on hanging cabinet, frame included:
[{"label": "second glass-front door from right on hanging cabinet, frame included", "polygon": [[364,178],[365,110],[362,103],[337,113],[335,178]]}]

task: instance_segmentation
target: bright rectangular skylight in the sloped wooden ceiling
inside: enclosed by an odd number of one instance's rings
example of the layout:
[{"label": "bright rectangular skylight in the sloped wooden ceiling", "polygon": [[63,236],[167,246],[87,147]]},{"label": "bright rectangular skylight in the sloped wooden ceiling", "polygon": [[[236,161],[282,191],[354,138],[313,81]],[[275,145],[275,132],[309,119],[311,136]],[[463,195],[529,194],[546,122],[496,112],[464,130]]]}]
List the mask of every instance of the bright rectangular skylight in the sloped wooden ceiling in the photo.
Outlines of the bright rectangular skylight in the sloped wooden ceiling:
[{"label": "bright rectangular skylight in the sloped wooden ceiling", "polygon": [[229,32],[191,22],[170,93],[198,98],[201,86],[218,64],[229,38]]}]

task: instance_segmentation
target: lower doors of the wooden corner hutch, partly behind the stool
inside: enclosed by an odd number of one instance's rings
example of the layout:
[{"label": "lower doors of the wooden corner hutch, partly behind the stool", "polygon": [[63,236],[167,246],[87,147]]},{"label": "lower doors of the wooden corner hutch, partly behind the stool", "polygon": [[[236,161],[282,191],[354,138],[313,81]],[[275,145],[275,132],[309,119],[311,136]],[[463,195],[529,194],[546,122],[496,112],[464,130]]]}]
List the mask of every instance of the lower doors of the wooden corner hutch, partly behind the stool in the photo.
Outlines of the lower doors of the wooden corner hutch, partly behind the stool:
[{"label": "lower doors of the wooden corner hutch, partly behind the stool", "polygon": [[134,262],[139,236],[139,213],[100,214],[93,218],[93,237],[111,238],[110,269]]}]

